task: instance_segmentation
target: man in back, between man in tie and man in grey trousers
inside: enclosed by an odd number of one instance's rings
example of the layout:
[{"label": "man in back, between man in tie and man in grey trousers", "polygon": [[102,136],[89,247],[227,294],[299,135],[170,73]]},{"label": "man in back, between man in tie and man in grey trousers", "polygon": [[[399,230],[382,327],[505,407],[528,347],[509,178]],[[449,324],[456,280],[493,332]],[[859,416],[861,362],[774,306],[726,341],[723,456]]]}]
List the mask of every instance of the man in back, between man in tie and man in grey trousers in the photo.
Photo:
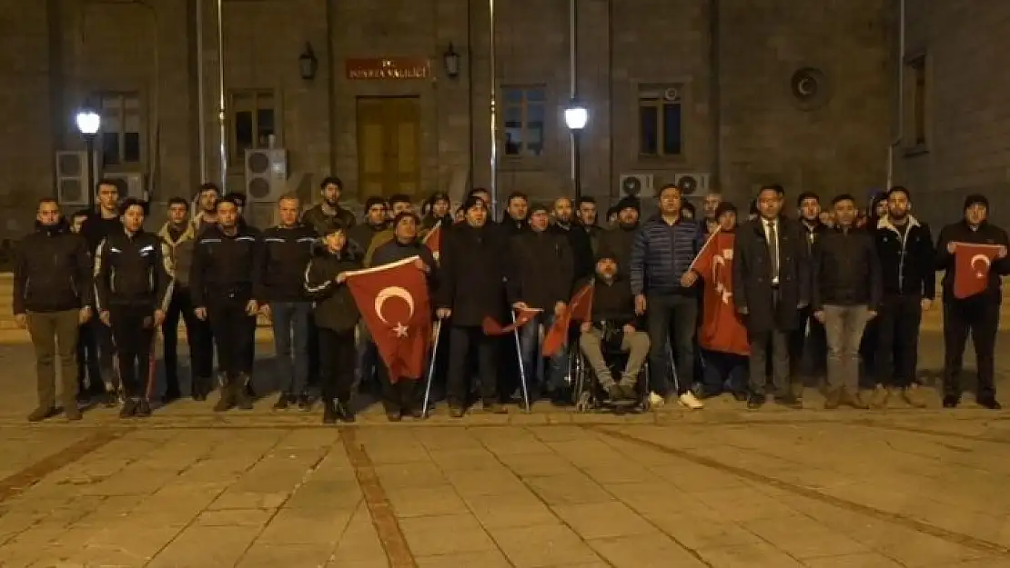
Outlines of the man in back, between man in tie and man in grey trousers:
[{"label": "man in back, between man in tie and man in grey trousers", "polygon": [[[800,227],[804,231],[807,242],[807,253],[814,257],[817,245],[830,227],[820,222],[820,197],[813,192],[803,192],[796,200],[799,210]],[[809,332],[808,332],[809,330]],[[800,376],[806,350],[810,351],[810,372],[814,375],[827,370],[827,337],[824,335],[824,325],[814,317],[810,306],[800,310],[800,325],[790,335],[789,359],[793,370],[791,375],[796,379]],[[797,394],[799,395],[799,394]]]}]

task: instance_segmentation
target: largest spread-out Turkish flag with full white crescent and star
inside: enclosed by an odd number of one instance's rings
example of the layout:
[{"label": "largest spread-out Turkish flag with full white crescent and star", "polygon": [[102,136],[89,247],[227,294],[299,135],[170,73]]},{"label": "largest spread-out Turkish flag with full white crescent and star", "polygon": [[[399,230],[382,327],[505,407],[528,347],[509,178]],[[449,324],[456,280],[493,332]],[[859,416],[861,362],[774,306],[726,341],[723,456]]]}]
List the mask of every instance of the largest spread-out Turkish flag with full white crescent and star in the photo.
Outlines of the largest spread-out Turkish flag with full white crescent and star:
[{"label": "largest spread-out Turkish flag with full white crescent and star", "polygon": [[393,382],[420,378],[431,337],[427,275],[418,256],[347,273],[347,287],[362,312]]}]

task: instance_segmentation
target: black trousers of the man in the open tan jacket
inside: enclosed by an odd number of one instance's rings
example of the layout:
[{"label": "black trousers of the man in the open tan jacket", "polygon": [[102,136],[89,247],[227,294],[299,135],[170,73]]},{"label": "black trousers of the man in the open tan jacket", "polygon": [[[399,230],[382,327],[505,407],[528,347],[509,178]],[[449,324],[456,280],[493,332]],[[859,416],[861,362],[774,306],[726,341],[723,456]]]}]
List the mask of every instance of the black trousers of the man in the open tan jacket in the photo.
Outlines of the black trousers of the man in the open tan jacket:
[{"label": "black trousers of the man in the open tan jacket", "polygon": [[189,291],[176,289],[165,313],[162,335],[165,338],[165,381],[169,391],[179,391],[179,320],[186,325],[190,350],[190,374],[194,380],[209,381],[214,373],[214,344],[210,324],[193,313]]}]

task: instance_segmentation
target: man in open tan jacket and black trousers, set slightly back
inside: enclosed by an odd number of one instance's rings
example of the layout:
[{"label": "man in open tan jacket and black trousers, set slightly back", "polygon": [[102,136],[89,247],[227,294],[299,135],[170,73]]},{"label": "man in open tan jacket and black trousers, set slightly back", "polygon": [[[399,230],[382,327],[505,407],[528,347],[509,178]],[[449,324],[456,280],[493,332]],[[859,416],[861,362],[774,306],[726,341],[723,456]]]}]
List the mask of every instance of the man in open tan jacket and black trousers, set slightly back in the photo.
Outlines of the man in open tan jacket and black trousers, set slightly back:
[{"label": "man in open tan jacket and black trousers, set slightly back", "polygon": [[[216,193],[204,192],[214,196]],[[201,198],[201,203],[204,200]],[[214,217],[217,214],[215,212]],[[162,335],[165,338],[165,395],[164,403],[180,396],[179,389],[179,318],[186,325],[186,339],[190,350],[190,393],[194,401],[205,401],[211,389],[214,367],[213,337],[207,322],[197,319],[193,313],[193,299],[189,288],[189,271],[193,265],[193,248],[196,246],[197,223],[189,220],[189,203],[183,198],[169,200],[169,220],[159,231],[159,236],[169,246],[169,254],[174,267],[175,286],[169,308],[165,313]]]}]

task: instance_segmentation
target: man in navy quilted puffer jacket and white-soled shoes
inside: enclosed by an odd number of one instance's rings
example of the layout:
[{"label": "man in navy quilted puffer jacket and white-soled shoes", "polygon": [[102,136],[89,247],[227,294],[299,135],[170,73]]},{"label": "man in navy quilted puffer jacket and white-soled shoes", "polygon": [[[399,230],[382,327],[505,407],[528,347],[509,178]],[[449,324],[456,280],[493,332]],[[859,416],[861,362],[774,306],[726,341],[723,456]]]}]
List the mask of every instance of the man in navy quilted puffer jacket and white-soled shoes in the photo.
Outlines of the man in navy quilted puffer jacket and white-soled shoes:
[{"label": "man in navy quilted puffer jacket and white-soled shoes", "polygon": [[[668,184],[660,190],[660,213],[645,221],[631,244],[631,292],[635,313],[645,315],[650,339],[649,365],[656,404],[664,397],[697,410],[704,407],[694,393],[695,331],[698,323],[698,275],[690,270],[701,248],[701,228],[682,216],[681,190]],[[676,364],[671,368],[667,341]]]}]

